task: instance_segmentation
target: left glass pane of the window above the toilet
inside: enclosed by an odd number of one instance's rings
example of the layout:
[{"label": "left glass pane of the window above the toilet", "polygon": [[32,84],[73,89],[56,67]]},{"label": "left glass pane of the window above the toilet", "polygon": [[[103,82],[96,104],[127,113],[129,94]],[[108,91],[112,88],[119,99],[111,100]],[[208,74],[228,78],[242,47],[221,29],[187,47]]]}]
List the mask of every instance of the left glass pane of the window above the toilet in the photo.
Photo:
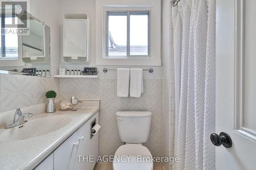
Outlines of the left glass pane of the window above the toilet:
[{"label": "left glass pane of the window above the toilet", "polygon": [[108,13],[108,56],[126,56],[127,14]]}]

